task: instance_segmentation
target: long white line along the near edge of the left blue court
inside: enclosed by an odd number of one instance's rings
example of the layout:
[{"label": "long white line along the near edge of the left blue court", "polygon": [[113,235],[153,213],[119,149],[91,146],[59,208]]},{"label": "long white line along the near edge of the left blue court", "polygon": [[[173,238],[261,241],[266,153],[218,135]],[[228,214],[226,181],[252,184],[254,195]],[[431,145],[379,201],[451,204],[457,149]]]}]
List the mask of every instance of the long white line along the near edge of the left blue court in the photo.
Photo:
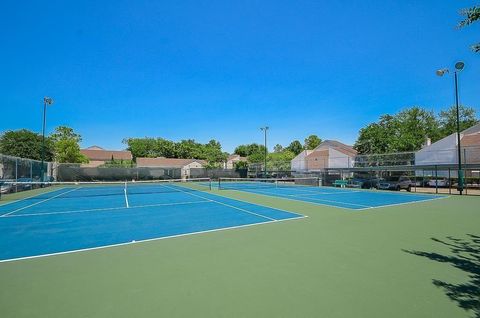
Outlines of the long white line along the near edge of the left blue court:
[{"label": "long white line along the near edge of the left blue court", "polygon": [[184,234],[176,234],[176,235],[170,235],[170,236],[156,237],[156,238],[145,239],[145,240],[140,240],[140,241],[117,243],[117,244],[103,245],[103,246],[90,247],[90,248],[82,248],[82,249],[77,249],[77,250],[71,250],[71,251],[65,251],[65,252],[57,252],[57,253],[49,253],[49,254],[42,254],[42,255],[35,255],[35,256],[17,257],[17,258],[0,260],[0,263],[14,262],[14,261],[21,261],[21,260],[27,260],[27,259],[33,259],[33,258],[41,258],[41,257],[48,257],[48,256],[56,256],[56,255],[63,255],[63,254],[72,254],[72,253],[86,252],[86,251],[93,251],[93,250],[100,250],[100,249],[105,249],[105,248],[110,248],[110,247],[117,247],[117,246],[124,246],[124,245],[132,245],[132,244],[138,244],[138,243],[145,243],[145,242],[165,240],[165,239],[170,239],[170,238],[178,238],[178,237],[183,237],[183,236],[191,236],[191,235],[204,234],[204,233],[220,232],[220,231],[232,230],[232,229],[240,229],[240,228],[250,227],[250,226],[255,226],[255,225],[262,225],[262,224],[269,224],[269,223],[278,223],[278,222],[291,221],[291,220],[303,219],[303,218],[304,218],[304,217],[301,216],[301,217],[294,217],[294,218],[289,218],[289,219],[281,219],[281,220],[273,220],[273,221],[255,222],[255,223],[251,223],[251,224],[229,226],[229,227],[224,227],[224,228],[219,228],[219,229],[213,229],[213,230],[205,230],[205,231],[197,231],[197,232],[191,232],[191,233],[184,233]]}]

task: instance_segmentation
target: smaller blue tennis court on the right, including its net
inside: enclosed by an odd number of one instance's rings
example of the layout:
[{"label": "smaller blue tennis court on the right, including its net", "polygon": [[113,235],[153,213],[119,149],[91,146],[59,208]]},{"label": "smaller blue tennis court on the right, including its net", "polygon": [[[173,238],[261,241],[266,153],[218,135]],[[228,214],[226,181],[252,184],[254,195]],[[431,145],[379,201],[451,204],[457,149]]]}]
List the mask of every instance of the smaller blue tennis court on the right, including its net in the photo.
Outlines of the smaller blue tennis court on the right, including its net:
[{"label": "smaller blue tennis court on the right, including its net", "polygon": [[447,197],[430,194],[321,187],[319,186],[318,178],[250,180],[221,178],[216,186],[220,190],[243,191],[352,210],[381,208],[392,205],[437,200]]}]

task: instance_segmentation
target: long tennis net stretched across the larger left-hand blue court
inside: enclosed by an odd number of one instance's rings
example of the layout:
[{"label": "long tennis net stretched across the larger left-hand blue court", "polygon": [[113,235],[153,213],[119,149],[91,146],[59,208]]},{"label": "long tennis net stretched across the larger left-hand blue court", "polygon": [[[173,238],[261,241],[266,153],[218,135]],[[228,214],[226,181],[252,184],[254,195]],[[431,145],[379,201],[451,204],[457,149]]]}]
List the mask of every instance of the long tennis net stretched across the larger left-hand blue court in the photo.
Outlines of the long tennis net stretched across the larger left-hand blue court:
[{"label": "long tennis net stretched across the larger left-hand blue court", "polygon": [[39,196],[96,197],[211,190],[209,178],[152,181],[90,181],[90,182],[0,182],[0,199]]}]

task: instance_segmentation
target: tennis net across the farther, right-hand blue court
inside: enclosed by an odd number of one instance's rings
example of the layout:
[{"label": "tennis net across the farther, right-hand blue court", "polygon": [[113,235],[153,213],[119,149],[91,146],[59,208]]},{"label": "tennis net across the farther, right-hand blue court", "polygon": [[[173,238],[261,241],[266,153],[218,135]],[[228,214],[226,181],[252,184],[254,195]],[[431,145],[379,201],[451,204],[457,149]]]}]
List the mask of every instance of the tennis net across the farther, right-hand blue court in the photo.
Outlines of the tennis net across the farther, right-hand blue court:
[{"label": "tennis net across the farther, right-hand blue court", "polygon": [[258,188],[318,187],[319,178],[220,178],[218,189],[242,190]]}]

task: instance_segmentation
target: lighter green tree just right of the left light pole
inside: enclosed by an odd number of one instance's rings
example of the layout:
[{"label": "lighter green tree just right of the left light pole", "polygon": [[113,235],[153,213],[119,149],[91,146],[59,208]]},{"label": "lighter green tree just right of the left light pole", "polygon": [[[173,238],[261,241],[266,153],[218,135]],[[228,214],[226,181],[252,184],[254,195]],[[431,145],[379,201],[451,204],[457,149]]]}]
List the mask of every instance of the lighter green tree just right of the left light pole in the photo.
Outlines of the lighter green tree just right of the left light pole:
[{"label": "lighter green tree just right of the left light pole", "polygon": [[60,163],[88,162],[88,158],[80,153],[79,142],[82,141],[82,137],[76,134],[72,128],[59,126],[55,128],[55,132],[49,139],[53,143],[55,161]]}]

